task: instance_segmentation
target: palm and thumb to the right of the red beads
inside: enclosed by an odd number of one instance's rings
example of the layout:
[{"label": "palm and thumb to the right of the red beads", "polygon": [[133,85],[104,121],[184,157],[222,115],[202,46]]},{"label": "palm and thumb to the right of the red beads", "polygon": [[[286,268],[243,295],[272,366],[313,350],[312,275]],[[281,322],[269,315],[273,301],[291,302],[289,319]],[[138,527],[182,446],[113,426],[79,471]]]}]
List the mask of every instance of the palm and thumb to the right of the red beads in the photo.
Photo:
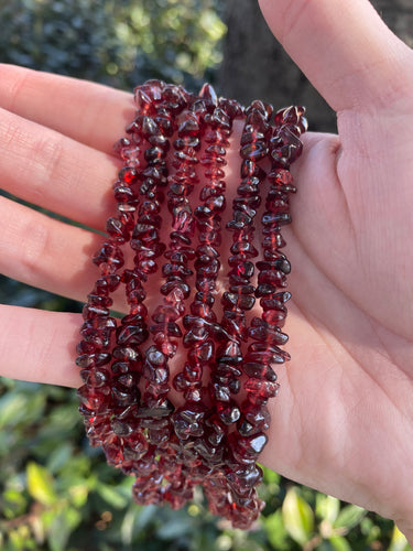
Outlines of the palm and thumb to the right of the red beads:
[{"label": "palm and thumb to the right of the red beads", "polygon": [[308,134],[296,172],[293,361],[263,458],[412,541],[413,54],[365,0],[260,6],[339,132]]}]

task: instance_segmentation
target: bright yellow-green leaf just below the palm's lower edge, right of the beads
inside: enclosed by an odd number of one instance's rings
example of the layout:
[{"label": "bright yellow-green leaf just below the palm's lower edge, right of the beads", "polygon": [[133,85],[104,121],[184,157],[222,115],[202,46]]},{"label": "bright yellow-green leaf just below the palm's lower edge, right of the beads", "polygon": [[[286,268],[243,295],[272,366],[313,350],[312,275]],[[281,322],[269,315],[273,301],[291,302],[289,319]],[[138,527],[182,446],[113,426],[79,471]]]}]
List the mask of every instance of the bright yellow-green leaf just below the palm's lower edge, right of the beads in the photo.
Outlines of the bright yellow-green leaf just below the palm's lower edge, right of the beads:
[{"label": "bright yellow-green leaf just below the palm's lower edge, right of the beads", "polygon": [[304,545],[313,533],[314,512],[307,501],[298,496],[294,487],[290,488],[282,505],[282,516],[291,538]]}]

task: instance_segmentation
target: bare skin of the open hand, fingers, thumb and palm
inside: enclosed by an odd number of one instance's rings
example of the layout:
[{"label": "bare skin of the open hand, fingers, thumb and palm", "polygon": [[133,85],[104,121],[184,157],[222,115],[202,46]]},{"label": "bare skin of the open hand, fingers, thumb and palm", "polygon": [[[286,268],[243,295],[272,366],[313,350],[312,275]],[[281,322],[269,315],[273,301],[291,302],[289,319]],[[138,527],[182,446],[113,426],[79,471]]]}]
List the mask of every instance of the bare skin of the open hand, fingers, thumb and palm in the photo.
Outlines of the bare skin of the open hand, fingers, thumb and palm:
[{"label": "bare skin of the open hand, fingers, thumb and palm", "polygon": [[[284,231],[292,361],[279,369],[260,461],[395,520],[412,543],[413,55],[367,0],[260,6],[338,121],[338,136],[304,136],[293,169],[298,193]],[[1,187],[102,230],[120,168],[111,145],[133,117],[131,96],[8,65],[0,74]],[[0,214],[1,272],[84,300],[101,237],[4,197]],[[155,296],[159,280],[151,284]],[[0,314],[3,376],[81,383],[78,314],[11,305]]]}]

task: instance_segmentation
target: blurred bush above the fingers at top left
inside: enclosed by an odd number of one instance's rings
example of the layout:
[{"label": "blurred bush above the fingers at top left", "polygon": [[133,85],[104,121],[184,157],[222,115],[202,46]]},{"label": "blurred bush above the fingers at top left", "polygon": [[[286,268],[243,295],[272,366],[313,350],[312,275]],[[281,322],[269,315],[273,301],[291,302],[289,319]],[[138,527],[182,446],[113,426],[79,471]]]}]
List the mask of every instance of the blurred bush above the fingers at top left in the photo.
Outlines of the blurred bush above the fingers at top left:
[{"label": "blurred bush above the fingers at top left", "polygon": [[197,87],[220,62],[217,0],[7,0],[0,61],[131,89]]}]

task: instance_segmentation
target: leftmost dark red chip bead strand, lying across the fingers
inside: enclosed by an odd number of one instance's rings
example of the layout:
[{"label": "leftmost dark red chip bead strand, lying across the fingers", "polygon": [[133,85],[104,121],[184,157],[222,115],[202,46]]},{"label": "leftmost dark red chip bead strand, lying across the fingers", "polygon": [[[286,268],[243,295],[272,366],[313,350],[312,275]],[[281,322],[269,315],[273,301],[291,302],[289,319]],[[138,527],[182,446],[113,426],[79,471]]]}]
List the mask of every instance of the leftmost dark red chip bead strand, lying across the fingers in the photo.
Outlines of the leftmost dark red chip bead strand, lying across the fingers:
[{"label": "leftmost dark red chip bead strand, lying across the fingers", "polygon": [[[140,166],[141,149],[124,138],[117,142],[116,150],[127,163],[119,171],[118,180],[113,184],[118,215],[108,219],[106,225],[108,239],[93,259],[99,267],[101,277],[95,283],[84,306],[85,322],[80,331],[84,339],[77,346],[79,356],[76,363],[84,367],[80,375],[85,382],[78,390],[80,410],[85,415],[87,434],[93,445],[108,445],[108,442],[116,437],[107,412],[115,407],[116,391],[122,387],[122,381],[112,378],[109,367],[113,356],[111,342],[118,327],[117,320],[110,315],[109,309],[112,305],[110,294],[121,283],[121,276],[117,272],[124,263],[122,246],[130,239],[138,204],[133,183]],[[123,154],[126,151],[128,152]],[[132,156],[133,166],[129,166]]]}]

